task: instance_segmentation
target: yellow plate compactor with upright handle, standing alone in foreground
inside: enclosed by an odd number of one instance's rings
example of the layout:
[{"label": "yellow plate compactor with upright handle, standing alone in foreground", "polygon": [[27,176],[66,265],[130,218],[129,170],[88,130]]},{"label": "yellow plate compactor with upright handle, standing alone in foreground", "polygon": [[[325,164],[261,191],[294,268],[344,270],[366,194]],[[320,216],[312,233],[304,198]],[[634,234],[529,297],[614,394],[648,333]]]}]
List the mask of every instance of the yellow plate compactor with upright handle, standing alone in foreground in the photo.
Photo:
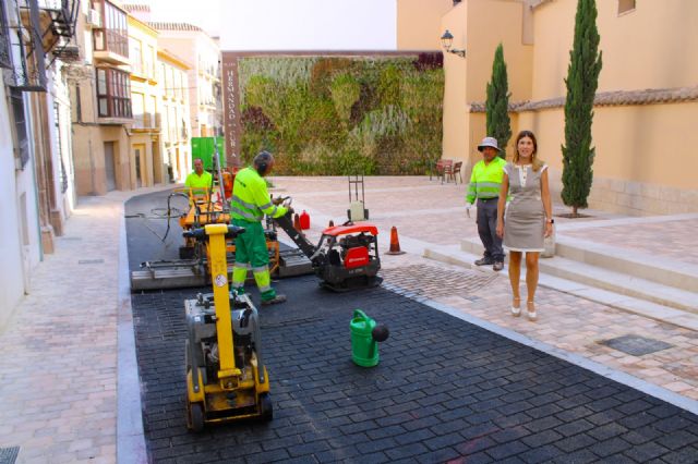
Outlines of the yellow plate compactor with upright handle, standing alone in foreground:
[{"label": "yellow plate compactor with upright handle, standing alone in foreground", "polygon": [[[273,416],[269,378],[262,362],[257,310],[246,295],[230,293],[226,236],[243,228],[208,224],[184,232],[206,243],[213,294],[186,300],[186,424],[205,425]],[[234,292],[233,292],[234,293]]]}]

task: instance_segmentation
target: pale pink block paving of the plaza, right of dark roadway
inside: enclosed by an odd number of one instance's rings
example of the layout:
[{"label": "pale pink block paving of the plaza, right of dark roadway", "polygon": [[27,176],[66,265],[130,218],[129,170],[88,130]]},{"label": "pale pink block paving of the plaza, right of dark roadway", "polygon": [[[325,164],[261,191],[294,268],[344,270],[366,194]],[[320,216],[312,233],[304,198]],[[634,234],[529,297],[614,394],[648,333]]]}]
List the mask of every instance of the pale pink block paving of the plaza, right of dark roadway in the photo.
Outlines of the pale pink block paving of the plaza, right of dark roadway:
[{"label": "pale pink block paving of the plaza, right of dark roadway", "polygon": [[[278,178],[275,185],[279,194],[293,196],[297,209],[310,211],[310,236],[317,236],[328,219],[339,223],[344,219],[338,218],[346,218],[349,202],[347,178]],[[454,276],[479,272],[421,257],[428,246],[453,246],[458,245],[461,239],[478,237],[474,219],[466,215],[464,184],[441,184],[417,176],[365,178],[364,187],[365,205],[371,221],[381,230],[383,249],[387,249],[389,231],[394,225],[399,231],[400,243],[408,244],[404,246],[408,252],[405,255],[383,254],[382,265],[388,282],[407,291],[418,290],[419,294],[464,314],[698,400],[697,332],[545,288],[539,288],[537,295],[538,322],[513,318],[508,314],[512,291],[505,274],[486,283],[473,297],[470,291],[454,282],[459,280]],[[566,211],[561,205],[555,205],[554,209],[556,213]],[[630,220],[633,227],[628,228],[615,224],[619,220],[627,221],[627,218],[601,211],[586,212],[589,218],[558,218],[558,236],[613,245],[642,256],[660,253],[661,244],[666,243],[663,240],[665,224],[669,224],[667,236],[677,239],[677,229],[684,229],[684,232],[693,230],[691,225],[696,225],[698,220],[695,215],[687,215],[681,220],[635,218]],[[629,229],[631,233],[628,233]],[[686,240],[672,240],[671,244],[670,251],[663,252],[665,255],[683,256],[686,261],[696,256],[695,247]],[[417,278],[420,267],[430,269],[428,278]],[[389,271],[392,268],[410,271],[393,272]],[[600,343],[627,334],[667,341],[672,347],[634,356]]]}]

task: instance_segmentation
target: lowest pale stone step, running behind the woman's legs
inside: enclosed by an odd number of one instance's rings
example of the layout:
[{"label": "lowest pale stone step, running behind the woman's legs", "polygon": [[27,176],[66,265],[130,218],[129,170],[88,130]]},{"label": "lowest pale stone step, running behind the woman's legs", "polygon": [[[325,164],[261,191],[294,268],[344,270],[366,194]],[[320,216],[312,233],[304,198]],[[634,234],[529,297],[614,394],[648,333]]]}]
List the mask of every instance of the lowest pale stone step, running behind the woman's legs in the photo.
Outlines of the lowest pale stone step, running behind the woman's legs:
[{"label": "lowest pale stone step, running behind the woman's legs", "polygon": [[[494,272],[491,266],[476,266],[473,261],[482,256],[481,253],[473,254],[464,252],[459,249],[458,246],[434,246],[424,249],[424,257],[437,260],[440,262],[447,262],[455,266],[465,267],[468,269],[478,269],[482,272]],[[564,260],[564,261],[563,261]],[[679,294],[675,294],[676,289],[671,288],[662,288],[655,286],[654,291],[661,296],[654,295],[651,298],[648,296],[650,292],[638,292],[637,296],[633,294],[633,288],[637,288],[636,285],[627,284],[626,277],[626,286],[618,285],[615,289],[605,289],[600,285],[599,282],[604,279],[611,279],[611,281],[618,280],[622,281],[623,276],[617,274],[615,278],[611,278],[610,274],[605,274],[605,277],[601,277],[600,273],[597,273],[595,279],[588,279],[587,282],[580,282],[578,280],[570,280],[567,278],[558,277],[553,273],[554,268],[556,267],[550,265],[549,262],[557,261],[561,266],[571,266],[579,265],[575,264],[571,260],[564,258],[549,258],[540,260],[540,279],[539,283],[541,286],[546,286],[550,289],[558,290],[561,292],[574,294],[576,296],[580,296],[587,300],[591,300],[598,303],[602,303],[622,310],[626,310],[628,313],[635,313],[645,317],[649,317],[651,319],[661,320],[664,322],[673,323],[679,327],[684,327],[690,330],[698,330],[698,307],[696,304],[687,302],[686,298],[691,296],[695,300],[695,295],[690,292],[682,292]],[[585,266],[585,265],[580,265]],[[505,269],[502,271],[505,276],[507,272],[508,264],[505,266]],[[579,272],[597,272],[598,269],[592,269],[592,267],[574,267],[576,272],[569,272],[570,276]],[[573,276],[576,277],[576,276]],[[524,279],[524,278],[522,278]],[[635,283],[641,284],[637,279]],[[649,285],[649,283],[646,283]],[[658,284],[654,284],[658,285]],[[627,293],[625,292],[626,290]],[[658,303],[658,301],[662,301],[669,304]]]}]

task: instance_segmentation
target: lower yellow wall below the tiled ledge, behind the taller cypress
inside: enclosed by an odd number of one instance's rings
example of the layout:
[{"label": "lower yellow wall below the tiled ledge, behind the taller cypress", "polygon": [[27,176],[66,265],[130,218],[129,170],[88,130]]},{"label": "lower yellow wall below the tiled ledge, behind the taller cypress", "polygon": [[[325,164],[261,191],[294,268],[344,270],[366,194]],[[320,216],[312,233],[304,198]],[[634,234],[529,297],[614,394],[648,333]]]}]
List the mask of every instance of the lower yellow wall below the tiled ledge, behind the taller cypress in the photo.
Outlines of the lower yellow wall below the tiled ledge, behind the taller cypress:
[{"label": "lower yellow wall below the tiled ledge, behind the taller cypress", "polygon": [[[697,118],[698,102],[594,108],[589,206],[637,216],[698,211],[694,174],[698,157],[686,149],[698,145],[698,131],[693,129]],[[518,125],[535,133],[540,157],[551,167],[551,191],[558,199],[563,109],[521,112]],[[681,169],[667,162],[667,154],[685,154]]]}]

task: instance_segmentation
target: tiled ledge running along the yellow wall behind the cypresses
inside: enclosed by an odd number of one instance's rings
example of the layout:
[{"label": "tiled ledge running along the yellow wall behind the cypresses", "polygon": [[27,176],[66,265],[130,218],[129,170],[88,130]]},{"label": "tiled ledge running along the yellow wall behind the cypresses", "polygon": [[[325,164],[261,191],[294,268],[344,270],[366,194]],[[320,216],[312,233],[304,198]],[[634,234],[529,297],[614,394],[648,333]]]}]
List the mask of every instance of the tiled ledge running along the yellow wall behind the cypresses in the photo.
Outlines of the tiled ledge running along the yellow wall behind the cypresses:
[{"label": "tiled ledge running along the yellow wall behind the cypresses", "polygon": [[[614,90],[600,91],[593,99],[594,107],[622,107],[638,105],[678,103],[685,101],[698,101],[698,86],[675,88],[647,88],[643,90]],[[549,98],[545,100],[525,100],[509,103],[509,112],[540,111],[554,108],[563,108],[565,97]],[[483,101],[470,103],[471,113],[483,113]]]}]

